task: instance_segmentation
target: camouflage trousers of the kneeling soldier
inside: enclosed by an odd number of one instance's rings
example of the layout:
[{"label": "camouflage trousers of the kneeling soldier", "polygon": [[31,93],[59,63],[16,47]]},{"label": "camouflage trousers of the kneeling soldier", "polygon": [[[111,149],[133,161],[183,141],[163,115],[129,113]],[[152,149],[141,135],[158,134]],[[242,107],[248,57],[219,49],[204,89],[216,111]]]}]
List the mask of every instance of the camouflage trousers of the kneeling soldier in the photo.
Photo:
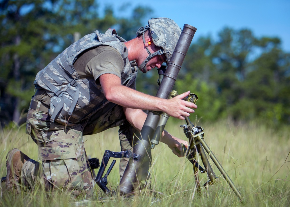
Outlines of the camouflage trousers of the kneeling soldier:
[{"label": "camouflage trousers of the kneeling soldier", "polygon": [[[37,101],[37,100],[34,100]],[[39,147],[38,162],[30,160],[23,165],[21,183],[34,188],[37,182],[46,190],[58,188],[70,191],[73,195],[93,195],[93,176],[90,170],[83,135],[91,135],[114,126],[120,126],[119,139],[121,150],[132,150],[135,130],[124,118],[110,116],[104,120],[104,115],[95,114],[86,122],[75,126],[64,126],[49,121],[47,112],[41,111],[40,101],[36,109],[30,108],[27,115],[26,133],[30,134]],[[116,107],[115,112],[121,113],[122,107]],[[100,124],[102,123],[102,124]],[[120,161],[120,176],[122,177],[128,160]],[[41,167],[40,167],[41,166]]]}]

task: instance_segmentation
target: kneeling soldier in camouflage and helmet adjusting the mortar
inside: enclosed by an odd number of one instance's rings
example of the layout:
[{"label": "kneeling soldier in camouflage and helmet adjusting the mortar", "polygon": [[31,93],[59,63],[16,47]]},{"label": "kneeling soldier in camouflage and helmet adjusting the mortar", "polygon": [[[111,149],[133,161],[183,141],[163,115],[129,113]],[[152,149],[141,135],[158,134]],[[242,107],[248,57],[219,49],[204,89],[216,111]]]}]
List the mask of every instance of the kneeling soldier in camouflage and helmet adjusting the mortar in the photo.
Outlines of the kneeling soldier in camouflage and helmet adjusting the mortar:
[{"label": "kneeling soldier in camouflage and helmet adjusting the mortar", "polygon": [[[150,19],[137,37],[125,41],[115,30],[95,31],[66,48],[41,70],[35,79],[35,95],[27,115],[26,133],[39,147],[39,162],[18,149],[7,155],[6,186],[46,190],[61,188],[73,195],[93,194],[83,135],[119,126],[121,150],[132,147],[133,136],[141,131],[146,113],[166,112],[184,119],[197,106],[182,99],[189,91],[166,100],[138,92],[138,68],[147,72],[168,62],[181,34],[171,19]],[[161,141],[179,157],[187,142],[162,133]],[[120,163],[120,175],[127,160]]]}]

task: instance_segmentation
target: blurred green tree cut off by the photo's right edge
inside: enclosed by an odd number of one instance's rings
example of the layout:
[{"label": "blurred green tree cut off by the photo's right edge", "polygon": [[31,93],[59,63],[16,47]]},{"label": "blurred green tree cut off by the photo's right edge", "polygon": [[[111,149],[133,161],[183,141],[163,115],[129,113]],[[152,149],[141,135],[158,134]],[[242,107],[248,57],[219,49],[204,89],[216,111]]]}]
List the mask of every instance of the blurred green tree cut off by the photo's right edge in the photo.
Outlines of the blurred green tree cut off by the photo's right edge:
[{"label": "blurred green tree cut off by the photo's right edge", "polygon": [[261,38],[263,53],[251,64],[244,90],[253,108],[251,118],[273,124],[289,122],[289,54],[280,49],[277,38]]}]

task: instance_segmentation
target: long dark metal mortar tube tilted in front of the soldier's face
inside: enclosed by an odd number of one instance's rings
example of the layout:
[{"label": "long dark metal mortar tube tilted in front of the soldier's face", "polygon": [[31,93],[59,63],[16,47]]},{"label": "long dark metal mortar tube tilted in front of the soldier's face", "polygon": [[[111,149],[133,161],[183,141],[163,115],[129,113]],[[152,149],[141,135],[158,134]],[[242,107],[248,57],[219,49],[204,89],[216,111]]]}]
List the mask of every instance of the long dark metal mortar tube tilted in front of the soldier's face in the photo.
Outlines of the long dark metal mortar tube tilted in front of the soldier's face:
[{"label": "long dark metal mortar tube tilted in front of the soldier's face", "polygon": [[[184,24],[180,37],[177,41],[177,45],[172,54],[171,60],[168,63],[166,72],[164,73],[164,77],[158,88],[156,97],[163,99],[168,98],[169,93],[171,92],[177,79],[177,75],[181,69],[181,65],[189,49],[195,31],[195,27]],[[143,164],[144,157],[147,154],[148,150],[151,150],[150,137],[154,135],[159,119],[159,114],[153,112],[148,113],[143,128],[140,132],[139,140],[133,148],[133,153],[140,155],[139,159],[129,160],[123,177],[118,186],[118,192],[120,193],[120,195],[127,195],[131,193],[133,183],[137,180],[137,173],[139,172]]]}]

